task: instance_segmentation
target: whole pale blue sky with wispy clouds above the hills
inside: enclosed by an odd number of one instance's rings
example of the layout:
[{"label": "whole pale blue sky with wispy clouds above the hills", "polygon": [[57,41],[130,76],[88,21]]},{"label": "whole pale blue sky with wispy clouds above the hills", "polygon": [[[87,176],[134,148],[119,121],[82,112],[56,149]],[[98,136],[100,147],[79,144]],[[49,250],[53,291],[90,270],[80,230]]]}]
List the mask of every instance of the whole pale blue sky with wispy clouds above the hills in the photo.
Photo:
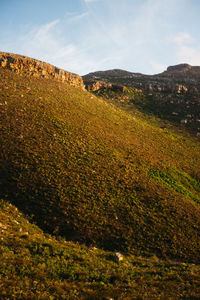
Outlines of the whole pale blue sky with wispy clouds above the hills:
[{"label": "whole pale blue sky with wispy clouds above the hills", "polygon": [[200,65],[200,0],[0,0],[0,51],[67,71]]}]

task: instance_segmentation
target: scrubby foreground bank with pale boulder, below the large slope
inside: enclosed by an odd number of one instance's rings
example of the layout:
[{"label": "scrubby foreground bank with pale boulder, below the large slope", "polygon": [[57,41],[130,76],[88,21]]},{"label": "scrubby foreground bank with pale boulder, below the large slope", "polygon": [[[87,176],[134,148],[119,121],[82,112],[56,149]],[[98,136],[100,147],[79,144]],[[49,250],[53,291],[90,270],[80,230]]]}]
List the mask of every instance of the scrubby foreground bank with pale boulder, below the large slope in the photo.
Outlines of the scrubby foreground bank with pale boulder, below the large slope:
[{"label": "scrubby foreground bank with pale boulder, below the large slope", "polygon": [[200,266],[112,252],[44,235],[0,200],[1,299],[199,299]]}]

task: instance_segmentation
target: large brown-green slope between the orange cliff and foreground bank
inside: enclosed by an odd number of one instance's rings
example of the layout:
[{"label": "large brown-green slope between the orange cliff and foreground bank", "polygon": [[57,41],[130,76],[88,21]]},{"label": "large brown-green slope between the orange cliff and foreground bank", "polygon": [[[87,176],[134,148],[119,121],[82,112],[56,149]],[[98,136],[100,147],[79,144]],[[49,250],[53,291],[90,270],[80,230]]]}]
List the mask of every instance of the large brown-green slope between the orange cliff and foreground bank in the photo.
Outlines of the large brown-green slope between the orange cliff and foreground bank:
[{"label": "large brown-green slope between the orange cliff and foreground bank", "polygon": [[79,88],[0,70],[2,196],[48,232],[200,259],[200,145]]}]

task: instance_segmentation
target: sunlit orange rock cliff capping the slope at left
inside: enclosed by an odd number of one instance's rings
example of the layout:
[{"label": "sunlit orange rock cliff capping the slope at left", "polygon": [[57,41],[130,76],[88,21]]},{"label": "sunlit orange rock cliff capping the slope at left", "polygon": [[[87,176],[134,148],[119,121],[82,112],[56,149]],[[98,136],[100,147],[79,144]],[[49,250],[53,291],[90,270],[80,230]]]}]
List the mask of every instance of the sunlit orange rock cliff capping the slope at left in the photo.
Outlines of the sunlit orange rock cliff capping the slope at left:
[{"label": "sunlit orange rock cliff capping the slope at left", "polygon": [[81,76],[27,56],[0,52],[0,67],[18,73],[23,72],[34,77],[53,78],[62,82],[67,82],[73,86],[85,88]]}]

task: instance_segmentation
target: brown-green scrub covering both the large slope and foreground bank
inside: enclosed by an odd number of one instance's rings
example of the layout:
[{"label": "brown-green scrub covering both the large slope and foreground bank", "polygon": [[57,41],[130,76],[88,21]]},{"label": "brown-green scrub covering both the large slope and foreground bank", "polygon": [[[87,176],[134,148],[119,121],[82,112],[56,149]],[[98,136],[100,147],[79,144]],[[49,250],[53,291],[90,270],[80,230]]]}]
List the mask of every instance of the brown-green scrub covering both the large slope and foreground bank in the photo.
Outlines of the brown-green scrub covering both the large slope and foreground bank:
[{"label": "brown-green scrub covering both the large slope and foreground bank", "polygon": [[199,141],[109,97],[0,70],[3,297],[199,296]]}]

